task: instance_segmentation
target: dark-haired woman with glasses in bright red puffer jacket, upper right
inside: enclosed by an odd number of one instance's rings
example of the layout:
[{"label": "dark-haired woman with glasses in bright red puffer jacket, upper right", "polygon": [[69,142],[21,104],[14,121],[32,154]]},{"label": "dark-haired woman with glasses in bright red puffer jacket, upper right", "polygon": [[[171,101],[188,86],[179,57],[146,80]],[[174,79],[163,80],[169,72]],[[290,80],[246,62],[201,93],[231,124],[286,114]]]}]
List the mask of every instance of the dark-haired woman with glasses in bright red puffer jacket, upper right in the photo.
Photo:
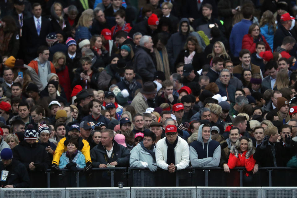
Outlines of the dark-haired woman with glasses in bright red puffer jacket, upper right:
[{"label": "dark-haired woman with glasses in bright red puffer jacket, upper right", "polygon": [[248,49],[251,54],[256,52],[256,43],[263,41],[265,43],[266,51],[271,51],[269,44],[265,37],[260,34],[260,28],[257,24],[252,24],[248,29],[248,34],[243,36],[241,49]]}]

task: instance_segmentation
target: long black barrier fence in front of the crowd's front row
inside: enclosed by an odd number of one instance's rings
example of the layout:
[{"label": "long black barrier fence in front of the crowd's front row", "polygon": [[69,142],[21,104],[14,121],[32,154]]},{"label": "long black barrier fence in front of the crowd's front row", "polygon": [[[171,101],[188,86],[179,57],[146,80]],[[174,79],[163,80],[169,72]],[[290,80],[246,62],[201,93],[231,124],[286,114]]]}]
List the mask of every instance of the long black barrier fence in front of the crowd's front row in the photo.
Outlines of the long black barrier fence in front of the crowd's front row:
[{"label": "long black barrier fence in front of the crowd's front row", "polygon": [[287,167],[262,167],[256,174],[247,172],[244,168],[235,168],[230,170],[230,173],[225,173],[220,167],[188,167],[175,173],[169,173],[162,169],[151,172],[148,169],[131,167],[93,168],[90,175],[86,175],[83,169],[77,171],[61,169],[59,173],[51,173],[50,170],[47,170],[45,179],[42,180],[43,177],[41,177],[41,180],[33,180],[35,182],[31,182],[30,187],[290,187],[297,186],[295,175],[297,175],[297,169]]}]

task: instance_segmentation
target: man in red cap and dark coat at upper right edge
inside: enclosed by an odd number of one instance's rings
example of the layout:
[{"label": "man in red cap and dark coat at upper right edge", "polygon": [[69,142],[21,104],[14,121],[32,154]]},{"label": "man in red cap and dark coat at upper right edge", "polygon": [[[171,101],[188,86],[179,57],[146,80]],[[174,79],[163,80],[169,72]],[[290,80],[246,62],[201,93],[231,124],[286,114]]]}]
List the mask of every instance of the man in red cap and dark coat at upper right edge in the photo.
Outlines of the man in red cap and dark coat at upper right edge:
[{"label": "man in red cap and dark coat at upper right edge", "polygon": [[289,13],[281,15],[280,22],[278,23],[278,29],[274,32],[273,51],[275,51],[277,47],[282,45],[282,41],[285,37],[292,37],[290,28],[292,26],[293,19],[295,18],[291,17]]}]

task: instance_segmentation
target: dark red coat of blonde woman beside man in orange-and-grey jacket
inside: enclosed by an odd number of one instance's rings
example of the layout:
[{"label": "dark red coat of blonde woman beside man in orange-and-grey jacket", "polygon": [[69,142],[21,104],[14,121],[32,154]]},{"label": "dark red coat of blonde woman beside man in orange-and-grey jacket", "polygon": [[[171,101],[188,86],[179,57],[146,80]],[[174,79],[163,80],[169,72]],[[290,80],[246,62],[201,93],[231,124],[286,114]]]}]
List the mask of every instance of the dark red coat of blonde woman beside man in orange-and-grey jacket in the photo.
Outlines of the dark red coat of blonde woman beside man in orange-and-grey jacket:
[{"label": "dark red coat of blonde woman beside man in orange-and-grey jacket", "polygon": [[59,84],[62,88],[64,88],[64,92],[67,97],[67,101],[71,101],[71,84],[69,78],[68,67],[65,65],[65,69],[56,69],[57,75],[59,77]]}]

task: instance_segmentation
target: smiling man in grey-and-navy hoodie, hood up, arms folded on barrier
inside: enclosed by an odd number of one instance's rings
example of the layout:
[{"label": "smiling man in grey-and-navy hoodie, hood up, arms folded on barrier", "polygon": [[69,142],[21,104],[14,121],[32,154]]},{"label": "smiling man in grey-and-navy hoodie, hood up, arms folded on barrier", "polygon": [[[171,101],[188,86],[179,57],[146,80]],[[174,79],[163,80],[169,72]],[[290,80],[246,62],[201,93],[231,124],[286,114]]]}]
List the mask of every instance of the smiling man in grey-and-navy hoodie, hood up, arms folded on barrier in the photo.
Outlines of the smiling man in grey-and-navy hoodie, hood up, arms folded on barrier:
[{"label": "smiling man in grey-and-navy hoodie, hood up, arms folded on barrier", "polygon": [[220,144],[215,140],[211,140],[211,127],[209,124],[200,125],[197,141],[190,144],[190,161],[192,166],[194,168],[217,167],[220,159]]}]

